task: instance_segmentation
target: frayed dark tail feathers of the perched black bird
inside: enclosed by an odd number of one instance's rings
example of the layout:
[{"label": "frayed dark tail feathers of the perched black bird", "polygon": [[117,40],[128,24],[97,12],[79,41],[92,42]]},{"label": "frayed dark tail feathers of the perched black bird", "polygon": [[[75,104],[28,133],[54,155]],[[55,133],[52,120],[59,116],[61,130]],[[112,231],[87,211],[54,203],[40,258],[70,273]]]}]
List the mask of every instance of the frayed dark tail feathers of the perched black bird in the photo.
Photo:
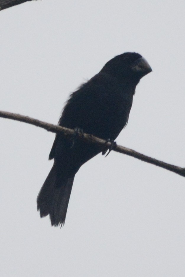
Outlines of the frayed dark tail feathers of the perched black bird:
[{"label": "frayed dark tail feathers of the perched black bird", "polygon": [[73,181],[74,176],[70,178],[57,176],[57,168],[55,163],[53,164],[37,197],[40,217],[49,214],[51,225],[64,225]]}]

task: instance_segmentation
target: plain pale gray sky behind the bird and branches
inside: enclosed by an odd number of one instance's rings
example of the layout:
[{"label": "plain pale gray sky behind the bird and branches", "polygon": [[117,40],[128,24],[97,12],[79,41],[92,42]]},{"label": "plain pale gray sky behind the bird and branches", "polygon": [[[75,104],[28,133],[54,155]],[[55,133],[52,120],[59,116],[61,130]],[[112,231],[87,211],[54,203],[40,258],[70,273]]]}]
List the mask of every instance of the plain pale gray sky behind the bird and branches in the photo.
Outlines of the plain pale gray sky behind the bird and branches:
[{"label": "plain pale gray sky behind the bird and branches", "polygon": [[[1,11],[0,109],[56,124],[69,94],[124,52],[153,72],[117,143],[185,166],[185,2],[30,1]],[[1,119],[1,276],[185,276],[185,179],[111,152],[76,174],[64,228],[36,197],[54,134]]]}]

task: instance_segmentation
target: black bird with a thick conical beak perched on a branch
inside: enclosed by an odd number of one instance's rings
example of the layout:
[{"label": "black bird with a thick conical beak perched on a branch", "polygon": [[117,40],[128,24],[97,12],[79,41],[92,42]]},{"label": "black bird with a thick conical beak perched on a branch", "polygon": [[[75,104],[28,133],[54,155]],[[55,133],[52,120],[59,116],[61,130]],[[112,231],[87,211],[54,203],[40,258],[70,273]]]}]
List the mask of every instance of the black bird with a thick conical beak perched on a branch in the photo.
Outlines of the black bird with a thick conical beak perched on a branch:
[{"label": "black bird with a thick conical beak perched on a branch", "polygon": [[[73,92],[59,125],[80,128],[104,140],[115,140],[129,119],[139,80],[152,71],[138,53],[124,53],[109,60],[101,71]],[[49,159],[53,167],[37,198],[40,217],[50,215],[51,225],[65,222],[74,176],[85,162],[102,152],[97,145],[69,140],[56,134]]]}]

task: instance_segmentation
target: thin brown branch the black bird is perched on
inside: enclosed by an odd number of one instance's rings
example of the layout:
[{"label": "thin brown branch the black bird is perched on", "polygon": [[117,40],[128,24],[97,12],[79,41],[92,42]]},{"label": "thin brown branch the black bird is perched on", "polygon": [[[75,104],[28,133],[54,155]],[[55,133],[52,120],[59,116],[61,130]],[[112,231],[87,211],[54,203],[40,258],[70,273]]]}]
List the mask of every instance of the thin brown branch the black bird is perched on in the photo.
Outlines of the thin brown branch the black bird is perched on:
[{"label": "thin brown branch the black bird is perched on", "polygon": [[[14,119],[14,120],[17,120],[17,121],[29,123],[29,124],[35,125],[37,127],[41,127],[41,128],[43,128],[43,129],[45,129],[49,132],[53,132],[53,133],[62,132],[65,136],[67,136],[69,138],[72,137],[72,135],[75,132],[74,130],[66,128],[66,127],[61,127],[61,126],[58,126],[58,125],[49,124],[49,123],[40,121],[38,119],[23,116],[23,115],[20,115],[20,114],[14,114],[14,113],[10,113],[10,112],[0,111],[0,117]],[[98,137],[95,137],[93,135],[89,135],[89,134],[84,133],[84,134],[79,134],[78,138],[85,141],[85,142],[88,142],[90,144],[95,143],[97,145],[100,145],[100,146],[102,146],[102,150],[105,148],[106,141],[102,140]],[[107,142],[107,147],[110,147],[110,146],[111,146],[111,142]],[[156,160],[154,158],[148,157],[146,155],[143,155],[143,154],[141,154],[137,151],[126,148],[126,147],[121,146],[121,145],[113,146],[113,150],[116,151],[116,152],[119,152],[119,153],[123,153],[123,154],[129,155],[129,156],[132,156],[134,158],[145,161],[147,163],[157,165],[159,167],[165,168],[169,171],[172,171],[174,173],[177,173],[177,174],[185,177],[185,168],[181,168],[181,167],[176,166],[176,165],[171,165],[169,163],[165,163],[165,162],[162,162],[160,160]]]}]

